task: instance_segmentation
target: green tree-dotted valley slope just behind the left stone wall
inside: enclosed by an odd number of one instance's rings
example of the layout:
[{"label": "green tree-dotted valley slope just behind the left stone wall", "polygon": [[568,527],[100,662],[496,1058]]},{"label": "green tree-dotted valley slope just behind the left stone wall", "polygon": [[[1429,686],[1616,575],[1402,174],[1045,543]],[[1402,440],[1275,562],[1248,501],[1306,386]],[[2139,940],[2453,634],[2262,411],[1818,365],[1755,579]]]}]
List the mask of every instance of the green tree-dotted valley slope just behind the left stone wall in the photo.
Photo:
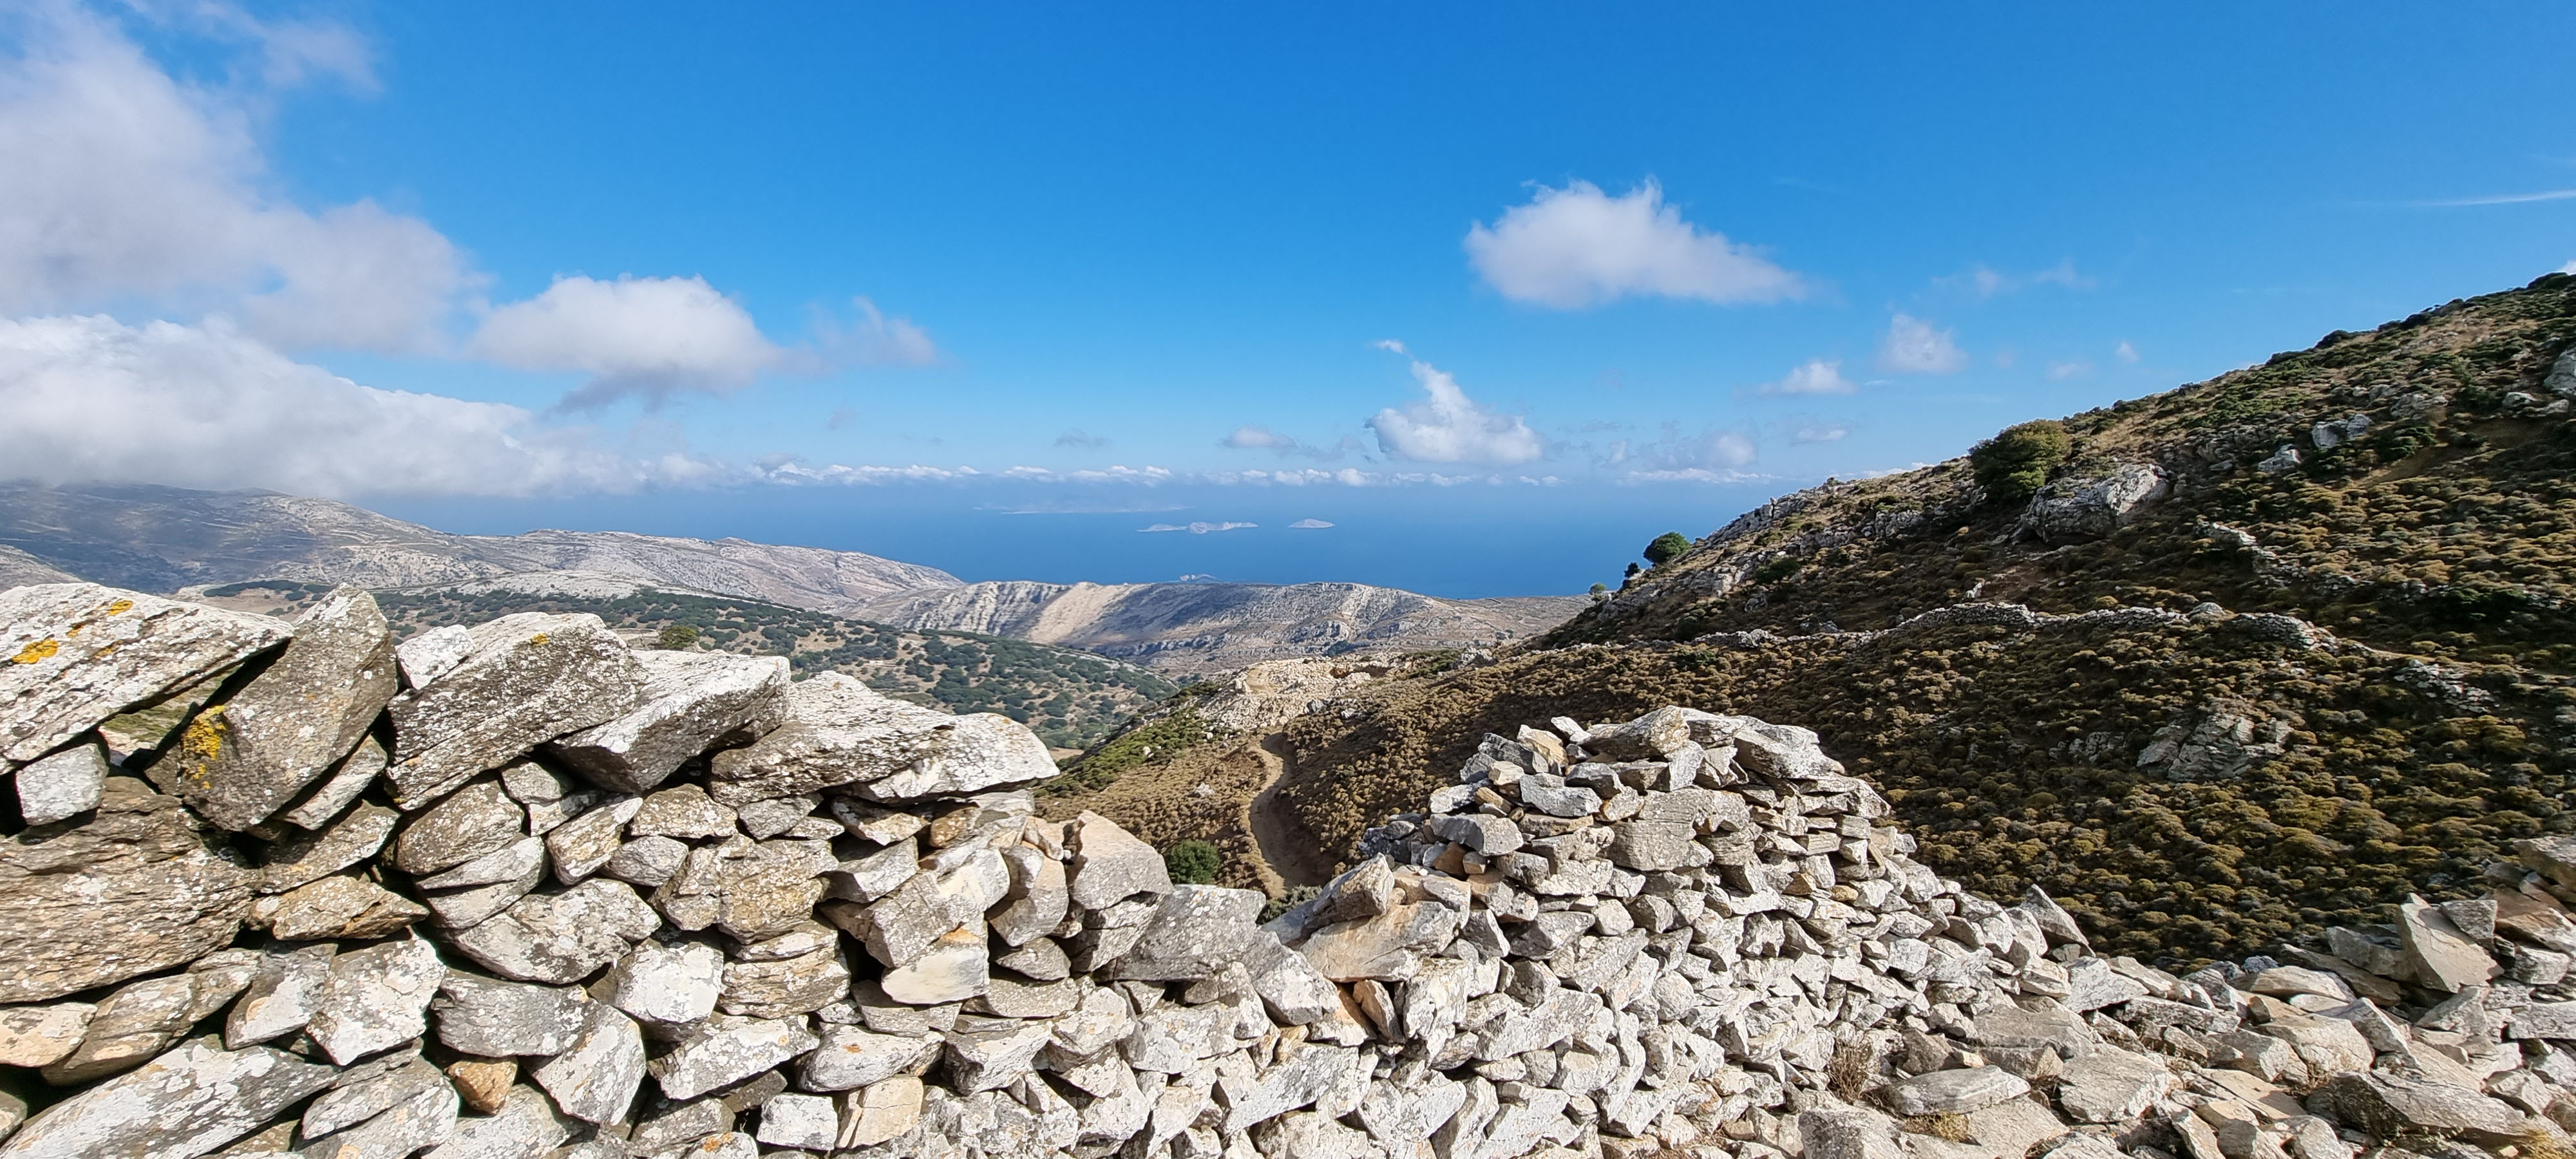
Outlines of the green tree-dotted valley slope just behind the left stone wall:
[{"label": "green tree-dotted valley slope just behind the left stone wall", "polygon": [[[255,580],[196,592],[214,605],[286,616],[330,590]],[[587,613],[639,646],[786,657],[796,675],[842,672],[899,701],[953,713],[1002,713],[1056,749],[1087,749],[1180,688],[1090,652],[966,631],[902,631],[778,603],[672,592],[600,572],[523,572],[394,587],[376,592],[376,603],[397,639],[513,613]]]}]

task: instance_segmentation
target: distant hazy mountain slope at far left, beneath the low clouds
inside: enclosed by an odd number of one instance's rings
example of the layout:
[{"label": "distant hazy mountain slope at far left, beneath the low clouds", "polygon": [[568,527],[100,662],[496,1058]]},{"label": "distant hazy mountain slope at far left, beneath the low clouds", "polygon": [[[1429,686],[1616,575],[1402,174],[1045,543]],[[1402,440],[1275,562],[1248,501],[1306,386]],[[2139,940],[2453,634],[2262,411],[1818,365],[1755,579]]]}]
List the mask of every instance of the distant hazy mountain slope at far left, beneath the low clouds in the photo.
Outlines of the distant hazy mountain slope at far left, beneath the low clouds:
[{"label": "distant hazy mountain slope at far left, beneath the low clouds", "polygon": [[868,598],[958,582],[935,567],[860,551],[623,531],[451,536],[332,500],[178,487],[0,484],[0,546],[85,580],[155,592],[242,580],[404,587],[585,569],[848,610]]}]

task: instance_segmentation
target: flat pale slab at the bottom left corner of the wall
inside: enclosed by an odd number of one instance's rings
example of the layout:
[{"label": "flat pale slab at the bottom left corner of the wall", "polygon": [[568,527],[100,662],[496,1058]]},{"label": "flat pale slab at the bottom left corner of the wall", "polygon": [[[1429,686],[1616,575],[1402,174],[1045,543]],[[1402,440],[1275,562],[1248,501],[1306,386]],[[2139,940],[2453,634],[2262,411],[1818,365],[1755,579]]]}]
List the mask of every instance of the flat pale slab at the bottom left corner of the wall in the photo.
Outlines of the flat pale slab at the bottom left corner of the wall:
[{"label": "flat pale slab at the bottom left corner of the wall", "polygon": [[72,1095],[0,1144],[5,1159],[180,1159],[214,1151],[304,1102],[332,1079],[330,1066],[252,1046],[204,1043],[152,1059]]}]

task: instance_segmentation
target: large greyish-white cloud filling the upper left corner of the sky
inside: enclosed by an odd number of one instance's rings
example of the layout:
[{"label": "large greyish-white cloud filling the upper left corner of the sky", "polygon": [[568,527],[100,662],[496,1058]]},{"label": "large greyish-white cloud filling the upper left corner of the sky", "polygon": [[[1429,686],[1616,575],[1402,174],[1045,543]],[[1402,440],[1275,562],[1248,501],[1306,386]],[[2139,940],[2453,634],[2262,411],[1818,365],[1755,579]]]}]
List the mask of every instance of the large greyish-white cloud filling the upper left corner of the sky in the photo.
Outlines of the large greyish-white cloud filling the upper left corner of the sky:
[{"label": "large greyish-white cloud filling the upper left corner of the sky", "polygon": [[[268,93],[183,85],[72,5],[15,8],[0,28],[15,31],[0,57],[0,312],[149,301],[237,312],[286,345],[438,345],[474,283],[464,255],[374,201],[309,211],[278,193],[258,147]],[[263,44],[273,85],[371,82],[345,28],[232,33]]]}]

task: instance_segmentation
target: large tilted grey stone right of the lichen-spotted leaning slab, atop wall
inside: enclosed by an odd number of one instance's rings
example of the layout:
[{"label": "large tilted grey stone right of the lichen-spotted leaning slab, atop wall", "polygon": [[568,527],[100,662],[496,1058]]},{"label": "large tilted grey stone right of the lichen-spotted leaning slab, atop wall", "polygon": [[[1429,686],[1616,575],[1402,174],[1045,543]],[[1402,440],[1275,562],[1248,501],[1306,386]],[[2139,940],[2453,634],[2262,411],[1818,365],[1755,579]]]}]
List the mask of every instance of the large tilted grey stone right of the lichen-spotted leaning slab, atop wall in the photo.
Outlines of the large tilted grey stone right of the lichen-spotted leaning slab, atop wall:
[{"label": "large tilted grey stone right of the lichen-spotted leaning slab, atop wall", "polygon": [[394,804],[420,809],[487,768],[644,701],[644,664],[598,616],[518,613],[469,628],[471,652],[386,708]]}]

